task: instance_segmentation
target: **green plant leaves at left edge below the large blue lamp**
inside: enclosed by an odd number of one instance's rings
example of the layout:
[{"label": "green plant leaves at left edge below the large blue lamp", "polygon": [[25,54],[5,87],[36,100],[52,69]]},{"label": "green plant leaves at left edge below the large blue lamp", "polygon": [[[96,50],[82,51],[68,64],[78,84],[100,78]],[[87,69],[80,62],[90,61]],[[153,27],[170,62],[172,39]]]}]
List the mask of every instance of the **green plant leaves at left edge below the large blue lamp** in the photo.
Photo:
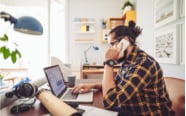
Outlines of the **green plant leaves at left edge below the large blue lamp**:
[{"label": "green plant leaves at left edge below the large blue lamp", "polygon": [[[3,37],[0,37],[0,41],[8,42],[8,36],[6,34],[4,34]],[[10,51],[10,49],[5,45],[0,47],[0,54],[3,55],[3,58],[5,60],[8,59],[9,57],[11,57],[12,63],[16,63],[17,56],[19,58],[21,58],[21,53],[19,52],[19,50],[17,48],[13,51]]]}]

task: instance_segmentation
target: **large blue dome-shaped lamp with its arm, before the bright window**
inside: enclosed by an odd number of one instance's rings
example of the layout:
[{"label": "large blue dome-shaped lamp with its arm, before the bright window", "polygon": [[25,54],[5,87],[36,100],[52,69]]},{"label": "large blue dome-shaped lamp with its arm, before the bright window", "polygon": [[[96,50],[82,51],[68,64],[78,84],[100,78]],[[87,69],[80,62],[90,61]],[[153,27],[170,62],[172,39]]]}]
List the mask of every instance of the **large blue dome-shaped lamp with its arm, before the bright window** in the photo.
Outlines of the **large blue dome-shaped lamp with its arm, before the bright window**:
[{"label": "large blue dome-shaped lamp with its arm, before the bright window", "polygon": [[10,21],[11,24],[13,23],[15,31],[31,35],[43,34],[41,23],[31,16],[23,16],[16,19],[6,12],[0,12],[0,18],[3,18],[5,21]]}]

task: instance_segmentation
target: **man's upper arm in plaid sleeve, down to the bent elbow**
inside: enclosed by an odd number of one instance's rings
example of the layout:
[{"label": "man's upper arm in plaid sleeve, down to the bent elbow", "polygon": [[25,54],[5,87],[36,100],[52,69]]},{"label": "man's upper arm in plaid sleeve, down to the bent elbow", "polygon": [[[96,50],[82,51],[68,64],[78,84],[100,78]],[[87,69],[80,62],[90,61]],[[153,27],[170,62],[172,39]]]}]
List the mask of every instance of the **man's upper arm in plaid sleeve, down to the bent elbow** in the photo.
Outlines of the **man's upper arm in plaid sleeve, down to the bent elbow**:
[{"label": "man's upper arm in plaid sleeve, down to the bent elbow", "polygon": [[[146,63],[144,63],[146,65]],[[147,66],[148,67],[148,66]],[[135,66],[128,72],[130,78],[125,79],[122,77],[122,81],[116,85],[116,87],[110,88],[104,94],[104,106],[106,108],[112,108],[118,106],[130,100],[137,92],[143,90],[150,82],[151,69],[143,66]],[[146,70],[144,72],[144,70]],[[135,73],[134,73],[135,72]]]}]

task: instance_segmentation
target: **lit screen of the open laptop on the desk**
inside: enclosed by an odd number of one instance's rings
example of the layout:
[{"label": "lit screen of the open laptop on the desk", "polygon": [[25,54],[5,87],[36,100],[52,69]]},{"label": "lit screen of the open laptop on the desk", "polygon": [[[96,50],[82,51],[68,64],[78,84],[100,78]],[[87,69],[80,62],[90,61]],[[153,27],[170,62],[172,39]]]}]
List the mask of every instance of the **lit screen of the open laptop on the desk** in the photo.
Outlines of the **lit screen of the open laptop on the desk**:
[{"label": "lit screen of the open laptop on the desk", "polygon": [[63,75],[60,70],[59,65],[53,65],[44,68],[45,75],[48,79],[48,83],[51,87],[52,93],[55,96],[60,96],[66,89],[65,82],[63,80]]}]

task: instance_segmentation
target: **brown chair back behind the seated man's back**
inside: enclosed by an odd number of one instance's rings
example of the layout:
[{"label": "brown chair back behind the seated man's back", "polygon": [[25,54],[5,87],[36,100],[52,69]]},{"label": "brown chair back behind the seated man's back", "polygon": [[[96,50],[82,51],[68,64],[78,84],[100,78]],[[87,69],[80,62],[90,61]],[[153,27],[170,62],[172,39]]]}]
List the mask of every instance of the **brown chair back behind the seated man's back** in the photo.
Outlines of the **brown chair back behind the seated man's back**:
[{"label": "brown chair back behind the seated man's back", "polygon": [[174,77],[164,79],[176,116],[185,116],[185,80]]}]

